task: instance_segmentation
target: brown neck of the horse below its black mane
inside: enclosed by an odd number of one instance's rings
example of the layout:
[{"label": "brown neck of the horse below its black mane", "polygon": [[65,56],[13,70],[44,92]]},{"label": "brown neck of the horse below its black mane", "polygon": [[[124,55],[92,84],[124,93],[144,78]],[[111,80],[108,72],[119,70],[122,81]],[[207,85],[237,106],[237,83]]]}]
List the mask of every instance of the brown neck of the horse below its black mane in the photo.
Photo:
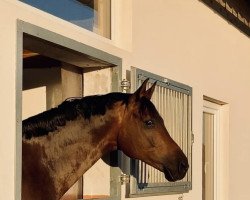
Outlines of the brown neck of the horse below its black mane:
[{"label": "brown neck of the horse below its black mane", "polygon": [[[41,199],[59,199],[99,158],[117,148],[120,107],[87,120],[78,117],[47,136],[23,140],[23,183],[47,195]],[[34,180],[29,180],[30,174],[35,174]]]}]

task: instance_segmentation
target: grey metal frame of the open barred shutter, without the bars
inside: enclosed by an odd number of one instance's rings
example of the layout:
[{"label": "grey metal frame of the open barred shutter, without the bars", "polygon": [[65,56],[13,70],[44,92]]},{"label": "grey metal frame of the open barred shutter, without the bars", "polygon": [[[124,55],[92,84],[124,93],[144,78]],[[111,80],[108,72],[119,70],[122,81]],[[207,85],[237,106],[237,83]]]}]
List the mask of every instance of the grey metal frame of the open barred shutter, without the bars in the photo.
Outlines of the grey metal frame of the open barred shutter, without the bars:
[{"label": "grey metal frame of the open barred shutter, without the bars", "polygon": [[[157,81],[157,84],[167,89],[178,91],[188,95],[190,98],[190,103],[188,104],[190,123],[187,145],[188,145],[188,158],[190,163],[190,171],[188,181],[186,182],[167,182],[167,183],[148,183],[147,185],[138,185],[135,175],[136,162],[137,160],[125,157],[125,170],[127,174],[130,175],[130,183],[126,185],[126,197],[141,197],[141,196],[155,196],[155,195],[167,195],[167,194],[180,194],[187,193],[192,189],[192,144],[193,144],[193,134],[192,134],[192,88],[188,85],[173,81],[171,79],[153,74],[148,71],[144,71],[135,67],[131,68],[131,89],[135,90],[139,87],[140,81],[150,78],[149,82],[153,83]],[[140,189],[143,187],[143,189]]]}]

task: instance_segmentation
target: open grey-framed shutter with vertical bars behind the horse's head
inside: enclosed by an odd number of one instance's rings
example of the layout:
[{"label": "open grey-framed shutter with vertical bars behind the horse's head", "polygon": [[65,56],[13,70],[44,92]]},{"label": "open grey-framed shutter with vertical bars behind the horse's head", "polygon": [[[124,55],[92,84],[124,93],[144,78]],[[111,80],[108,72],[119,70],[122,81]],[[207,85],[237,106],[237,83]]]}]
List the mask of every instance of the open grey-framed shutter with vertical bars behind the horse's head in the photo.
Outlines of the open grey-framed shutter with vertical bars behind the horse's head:
[{"label": "open grey-framed shutter with vertical bars behind the horse's head", "polygon": [[164,174],[139,160],[130,159],[130,178],[127,197],[151,196],[188,192],[192,187],[192,88],[164,77],[132,68],[131,84],[135,90],[150,78],[148,87],[157,85],[152,102],[164,119],[171,137],[188,157],[190,168],[186,177],[168,182]]}]

